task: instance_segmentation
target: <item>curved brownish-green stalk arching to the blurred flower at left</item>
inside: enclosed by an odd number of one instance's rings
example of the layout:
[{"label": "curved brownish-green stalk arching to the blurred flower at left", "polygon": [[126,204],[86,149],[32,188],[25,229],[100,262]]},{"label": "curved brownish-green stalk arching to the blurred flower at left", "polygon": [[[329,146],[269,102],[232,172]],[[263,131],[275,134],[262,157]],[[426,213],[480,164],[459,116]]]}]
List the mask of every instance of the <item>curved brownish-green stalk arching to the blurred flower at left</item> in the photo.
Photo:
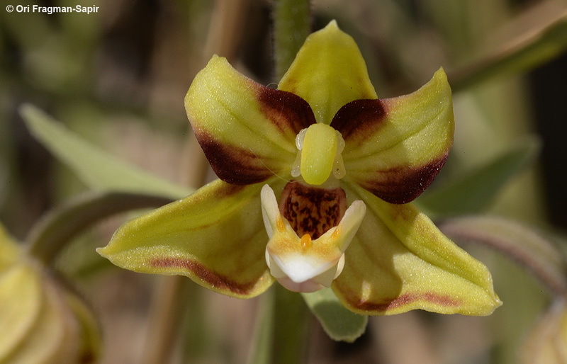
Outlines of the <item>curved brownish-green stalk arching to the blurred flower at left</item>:
[{"label": "curved brownish-green stalk arching to the blurred flower at left", "polygon": [[35,224],[26,239],[29,253],[50,265],[69,241],[95,222],[118,212],[159,207],[171,201],[170,198],[140,193],[100,192],[83,195],[50,211]]}]

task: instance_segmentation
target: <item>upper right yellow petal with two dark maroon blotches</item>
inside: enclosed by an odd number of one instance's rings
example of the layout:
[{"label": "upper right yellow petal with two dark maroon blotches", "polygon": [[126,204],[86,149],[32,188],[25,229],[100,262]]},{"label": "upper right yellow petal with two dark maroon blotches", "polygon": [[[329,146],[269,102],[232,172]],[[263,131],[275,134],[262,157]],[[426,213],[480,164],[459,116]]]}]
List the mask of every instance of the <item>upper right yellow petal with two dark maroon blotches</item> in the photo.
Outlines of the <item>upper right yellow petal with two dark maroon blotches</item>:
[{"label": "upper right yellow petal with two dark maroon blotches", "polygon": [[345,178],[382,200],[408,203],[437,176],[453,144],[447,76],[439,69],[414,93],[349,103],[331,126],[344,138]]}]

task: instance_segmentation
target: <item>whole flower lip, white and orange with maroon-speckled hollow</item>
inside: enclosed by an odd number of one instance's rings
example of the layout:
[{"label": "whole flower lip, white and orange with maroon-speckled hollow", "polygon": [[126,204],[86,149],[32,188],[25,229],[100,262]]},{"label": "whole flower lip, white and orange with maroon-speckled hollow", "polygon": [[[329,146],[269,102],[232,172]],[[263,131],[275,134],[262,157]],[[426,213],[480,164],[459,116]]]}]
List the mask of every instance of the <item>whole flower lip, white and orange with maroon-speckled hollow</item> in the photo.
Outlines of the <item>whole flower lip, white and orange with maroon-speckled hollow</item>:
[{"label": "whole flower lip, white and orange with maroon-speckled hollow", "polygon": [[[296,292],[329,287],[342,272],[344,251],[364,219],[366,205],[356,200],[344,210],[342,189],[301,182],[288,183],[280,206],[268,185],[262,187],[261,200],[271,275]],[[305,223],[307,220],[310,222]]]}]

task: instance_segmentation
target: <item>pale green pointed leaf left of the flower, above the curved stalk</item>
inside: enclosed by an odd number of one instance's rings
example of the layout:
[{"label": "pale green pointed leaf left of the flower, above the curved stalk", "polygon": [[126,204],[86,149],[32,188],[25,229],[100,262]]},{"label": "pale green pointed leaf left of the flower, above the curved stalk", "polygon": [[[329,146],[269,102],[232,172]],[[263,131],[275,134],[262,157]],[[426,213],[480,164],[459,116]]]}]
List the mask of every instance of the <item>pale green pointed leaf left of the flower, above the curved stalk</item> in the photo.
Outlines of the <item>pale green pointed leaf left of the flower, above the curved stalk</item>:
[{"label": "pale green pointed leaf left of the flower, above the curved stalk", "polygon": [[149,193],[174,199],[193,192],[116,159],[65,129],[35,106],[23,105],[20,112],[32,135],[90,188]]}]

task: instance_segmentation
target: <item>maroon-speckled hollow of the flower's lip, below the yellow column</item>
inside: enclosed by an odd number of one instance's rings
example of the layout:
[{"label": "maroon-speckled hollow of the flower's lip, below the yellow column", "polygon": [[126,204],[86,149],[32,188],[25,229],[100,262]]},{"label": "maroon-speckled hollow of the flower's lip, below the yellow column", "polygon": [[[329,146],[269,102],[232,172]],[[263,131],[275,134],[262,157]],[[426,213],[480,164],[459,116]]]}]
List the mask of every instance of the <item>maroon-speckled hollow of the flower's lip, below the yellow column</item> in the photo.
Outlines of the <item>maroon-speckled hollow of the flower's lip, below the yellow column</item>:
[{"label": "maroon-speckled hollow of the flower's lip, below the yellow column", "polygon": [[279,206],[298,237],[309,234],[311,239],[317,239],[339,224],[347,210],[347,195],[342,188],[290,182],[281,192]]}]

